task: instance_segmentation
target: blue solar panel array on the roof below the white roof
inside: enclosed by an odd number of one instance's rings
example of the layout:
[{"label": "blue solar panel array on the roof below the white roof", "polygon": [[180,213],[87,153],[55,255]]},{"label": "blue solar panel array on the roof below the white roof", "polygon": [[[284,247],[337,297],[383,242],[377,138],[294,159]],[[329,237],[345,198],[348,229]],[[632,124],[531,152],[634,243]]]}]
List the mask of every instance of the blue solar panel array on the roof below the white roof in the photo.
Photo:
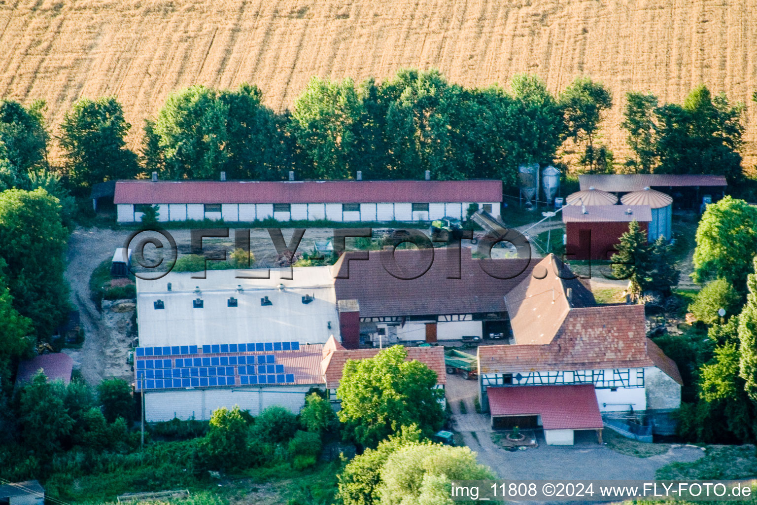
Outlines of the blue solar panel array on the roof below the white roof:
[{"label": "blue solar panel array on the roof below the white roof", "polygon": [[[274,354],[239,355],[266,351],[298,351],[300,343],[181,345],[136,349],[137,389],[204,386],[287,384],[294,374],[276,363]],[[234,356],[213,356],[229,354]],[[198,356],[192,356],[197,354]],[[182,356],[182,357],[173,357]],[[171,357],[167,357],[171,356]]]}]

